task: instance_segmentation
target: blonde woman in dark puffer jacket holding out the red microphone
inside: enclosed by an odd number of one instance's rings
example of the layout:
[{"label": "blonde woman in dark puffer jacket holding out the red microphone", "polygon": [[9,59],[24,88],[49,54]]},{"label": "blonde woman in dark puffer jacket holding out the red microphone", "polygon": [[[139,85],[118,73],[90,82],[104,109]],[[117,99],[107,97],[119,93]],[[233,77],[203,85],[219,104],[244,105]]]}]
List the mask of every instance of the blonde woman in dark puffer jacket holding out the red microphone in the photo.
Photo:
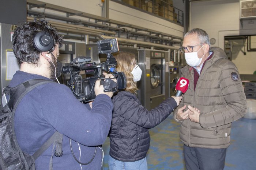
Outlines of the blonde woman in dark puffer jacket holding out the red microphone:
[{"label": "blonde woman in dark puffer jacket holding out the red microphone", "polygon": [[150,145],[151,129],[165,120],[176,108],[182,97],[172,96],[159,106],[148,111],[134,95],[136,81],[140,80],[142,71],[136,65],[135,56],[120,52],[115,56],[117,71],[124,72],[127,87],[113,96],[113,118],[109,132],[110,170],[147,169],[146,154]]}]

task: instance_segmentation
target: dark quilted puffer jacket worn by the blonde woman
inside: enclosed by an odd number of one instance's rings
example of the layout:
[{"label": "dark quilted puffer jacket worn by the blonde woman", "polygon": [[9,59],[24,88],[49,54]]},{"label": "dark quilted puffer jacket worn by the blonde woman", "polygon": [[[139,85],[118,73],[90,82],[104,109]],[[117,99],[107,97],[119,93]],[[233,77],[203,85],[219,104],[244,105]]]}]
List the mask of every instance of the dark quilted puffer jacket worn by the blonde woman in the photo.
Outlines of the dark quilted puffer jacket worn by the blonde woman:
[{"label": "dark quilted puffer jacket worn by the blonde woman", "polygon": [[112,158],[134,162],[146,157],[150,145],[151,129],[165,120],[177,107],[173,98],[148,111],[135,95],[120,91],[113,97],[114,108],[109,132]]}]

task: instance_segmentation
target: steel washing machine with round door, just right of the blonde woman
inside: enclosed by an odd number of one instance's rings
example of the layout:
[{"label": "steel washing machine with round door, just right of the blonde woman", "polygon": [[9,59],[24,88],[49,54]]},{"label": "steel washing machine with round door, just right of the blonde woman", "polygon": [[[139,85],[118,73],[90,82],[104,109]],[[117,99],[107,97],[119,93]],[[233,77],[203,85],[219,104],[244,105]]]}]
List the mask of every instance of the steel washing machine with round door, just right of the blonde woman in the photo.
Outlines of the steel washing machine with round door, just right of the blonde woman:
[{"label": "steel washing machine with round door, just right of the blonde woman", "polygon": [[168,56],[168,51],[138,50],[138,65],[142,70],[138,98],[148,110],[169,97]]}]

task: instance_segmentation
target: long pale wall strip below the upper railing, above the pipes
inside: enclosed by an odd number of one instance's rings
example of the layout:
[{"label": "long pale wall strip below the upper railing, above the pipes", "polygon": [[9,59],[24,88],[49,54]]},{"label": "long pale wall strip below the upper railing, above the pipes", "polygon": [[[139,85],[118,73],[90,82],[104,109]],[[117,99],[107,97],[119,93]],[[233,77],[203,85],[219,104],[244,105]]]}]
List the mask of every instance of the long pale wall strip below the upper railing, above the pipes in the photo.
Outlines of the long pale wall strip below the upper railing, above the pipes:
[{"label": "long pale wall strip below the upper railing, above the pipes", "polygon": [[[101,0],[40,0],[45,3],[59,5],[61,7],[75,9],[77,11],[101,15]],[[158,32],[168,33],[174,36],[183,37],[184,28],[171,23],[165,19],[155,17],[148,13],[129,8],[125,5],[109,1],[109,18],[124,23],[138,25],[140,27],[153,29]]]}]

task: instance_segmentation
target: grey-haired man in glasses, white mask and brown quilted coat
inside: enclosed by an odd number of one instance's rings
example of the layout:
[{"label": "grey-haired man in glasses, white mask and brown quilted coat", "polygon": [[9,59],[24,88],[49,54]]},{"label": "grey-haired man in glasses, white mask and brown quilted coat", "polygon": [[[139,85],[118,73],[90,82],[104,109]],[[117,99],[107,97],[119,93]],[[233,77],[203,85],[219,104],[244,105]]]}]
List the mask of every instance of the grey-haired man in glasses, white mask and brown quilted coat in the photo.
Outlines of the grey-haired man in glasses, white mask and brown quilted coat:
[{"label": "grey-haired man in glasses, white mask and brown quilted coat", "polygon": [[231,122],[247,110],[237,67],[221,48],[210,48],[208,34],[200,28],[185,34],[180,50],[188,64],[181,76],[189,80],[189,86],[174,110],[174,119],[181,122],[186,168],[224,169]]}]

